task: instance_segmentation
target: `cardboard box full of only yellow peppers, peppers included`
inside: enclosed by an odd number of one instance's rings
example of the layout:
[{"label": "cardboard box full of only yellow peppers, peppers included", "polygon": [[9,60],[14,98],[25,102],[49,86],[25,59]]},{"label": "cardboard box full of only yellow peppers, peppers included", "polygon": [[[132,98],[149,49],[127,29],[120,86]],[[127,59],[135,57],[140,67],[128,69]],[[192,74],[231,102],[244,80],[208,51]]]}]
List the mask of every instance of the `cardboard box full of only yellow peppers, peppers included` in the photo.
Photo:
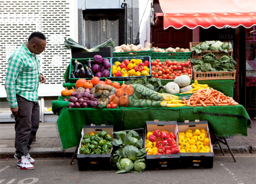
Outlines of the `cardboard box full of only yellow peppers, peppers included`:
[{"label": "cardboard box full of only yellow peppers, peppers included", "polygon": [[210,141],[208,122],[178,122],[180,167],[212,168],[213,148]]}]

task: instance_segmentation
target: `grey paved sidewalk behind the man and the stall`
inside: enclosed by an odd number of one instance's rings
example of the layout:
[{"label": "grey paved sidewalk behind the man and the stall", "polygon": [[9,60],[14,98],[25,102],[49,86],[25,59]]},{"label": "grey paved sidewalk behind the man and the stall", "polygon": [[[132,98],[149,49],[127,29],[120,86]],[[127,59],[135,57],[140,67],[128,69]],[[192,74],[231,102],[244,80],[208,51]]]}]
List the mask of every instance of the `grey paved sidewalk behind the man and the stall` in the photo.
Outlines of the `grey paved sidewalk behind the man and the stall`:
[{"label": "grey paved sidewalk behind the man and the stall", "polygon": [[[256,153],[256,121],[252,120],[251,128],[247,129],[248,136],[226,137],[230,149],[236,153]],[[14,148],[14,123],[0,123],[0,158],[13,158]],[[221,144],[225,153],[228,147]],[[62,149],[56,122],[40,123],[36,134],[36,143],[31,145],[30,154],[33,157],[72,157],[76,147]],[[222,154],[218,145],[213,146],[214,154]]]}]

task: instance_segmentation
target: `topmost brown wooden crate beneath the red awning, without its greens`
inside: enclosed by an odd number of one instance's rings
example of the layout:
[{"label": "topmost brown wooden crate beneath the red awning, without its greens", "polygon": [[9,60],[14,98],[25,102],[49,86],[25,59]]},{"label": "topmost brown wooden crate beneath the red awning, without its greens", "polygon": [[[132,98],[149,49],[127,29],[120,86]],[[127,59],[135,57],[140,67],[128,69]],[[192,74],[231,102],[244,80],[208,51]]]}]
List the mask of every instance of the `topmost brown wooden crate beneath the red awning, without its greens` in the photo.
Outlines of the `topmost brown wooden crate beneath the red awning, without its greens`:
[{"label": "topmost brown wooden crate beneath the red awning, without its greens", "polygon": [[[192,49],[192,46],[197,46],[199,45],[201,42],[189,42],[189,49]],[[224,42],[224,43],[228,43],[228,42]],[[216,56],[216,58],[221,58],[222,56],[228,55],[231,56],[233,55],[233,49],[228,50],[228,53],[224,52],[224,51],[202,51],[201,53],[196,53],[196,51],[192,51],[191,57],[192,58],[202,58],[204,55],[206,55],[207,53],[212,52],[213,55]]]}]

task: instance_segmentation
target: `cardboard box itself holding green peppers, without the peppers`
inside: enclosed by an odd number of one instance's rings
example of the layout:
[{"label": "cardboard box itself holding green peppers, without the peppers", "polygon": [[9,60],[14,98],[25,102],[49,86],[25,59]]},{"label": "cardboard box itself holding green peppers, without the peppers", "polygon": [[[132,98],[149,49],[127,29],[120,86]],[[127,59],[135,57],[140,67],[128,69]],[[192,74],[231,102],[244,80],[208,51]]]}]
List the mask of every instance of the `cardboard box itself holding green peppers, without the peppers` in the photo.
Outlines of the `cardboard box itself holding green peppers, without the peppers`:
[{"label": "cardboard box itself holding green peppers, without the peppers", "polygon": [[[84,133],[100,133],[102,130],[108,132],[109,135],[113,137],[113,126],[112,125],[101,125],[101,126],[83,126],[81,136]],[[81,147],[80,140],[79,148]],[[80,154],[79,149],[77,151],[77,162],[79,170],[111,170],[112,169],[112,151],[109,154]]]}]

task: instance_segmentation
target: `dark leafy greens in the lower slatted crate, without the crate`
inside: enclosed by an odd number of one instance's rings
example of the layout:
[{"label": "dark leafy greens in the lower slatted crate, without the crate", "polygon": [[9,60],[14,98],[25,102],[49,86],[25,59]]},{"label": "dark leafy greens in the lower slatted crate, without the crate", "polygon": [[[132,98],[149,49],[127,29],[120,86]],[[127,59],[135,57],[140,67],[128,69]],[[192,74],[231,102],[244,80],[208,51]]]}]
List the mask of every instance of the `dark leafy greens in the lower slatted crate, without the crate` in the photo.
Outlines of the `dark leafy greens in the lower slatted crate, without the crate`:
[{"label": "dark leafy greens in the lower slatted crate, without the crate", "polygon": [[237,62],[231,56],[222,56],[216,59],[213,53],[209,52],[201,59],[191,58],[196,72],[227,72],[234,71]]}]

